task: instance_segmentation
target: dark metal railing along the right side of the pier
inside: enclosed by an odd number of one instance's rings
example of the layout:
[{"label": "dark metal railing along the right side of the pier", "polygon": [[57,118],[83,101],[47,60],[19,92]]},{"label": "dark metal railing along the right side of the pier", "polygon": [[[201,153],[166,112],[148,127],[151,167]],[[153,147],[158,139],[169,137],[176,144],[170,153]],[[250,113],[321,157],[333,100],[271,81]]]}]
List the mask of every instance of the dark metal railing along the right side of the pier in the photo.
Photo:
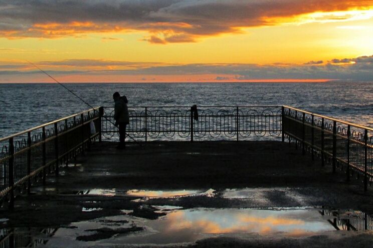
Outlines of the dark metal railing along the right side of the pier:
[{"label": "dark metal railing along the right side of the pier", "polygon": [[331,161],[333,172],[345,169],[346,180],[353,174],[363,178],[364,190],[373,180],[373,129],[290,106],[282,107],[282,140],[301,146],[322,165]]}]

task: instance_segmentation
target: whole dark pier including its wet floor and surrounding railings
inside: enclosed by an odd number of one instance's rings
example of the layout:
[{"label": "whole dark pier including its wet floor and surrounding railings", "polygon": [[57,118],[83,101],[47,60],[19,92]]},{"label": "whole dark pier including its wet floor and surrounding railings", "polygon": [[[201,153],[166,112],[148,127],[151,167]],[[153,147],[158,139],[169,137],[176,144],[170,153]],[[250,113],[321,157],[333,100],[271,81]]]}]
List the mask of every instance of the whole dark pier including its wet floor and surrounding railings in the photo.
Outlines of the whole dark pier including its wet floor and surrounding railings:
[{"label": "whole dark pier including its wet floor and surrounding railings", "polygon": [[[201,106],[198,117],[185,106],[130,109],[125,150],[115,149],[109,107],[0,139],[0,247],[371,242],[373,129],[290,106]],[[204,223],[177,217],[197,213]],[[173,217],[192,226],[166,232],[156,222]],[[309,218],[318,224],[287,229]]]}]

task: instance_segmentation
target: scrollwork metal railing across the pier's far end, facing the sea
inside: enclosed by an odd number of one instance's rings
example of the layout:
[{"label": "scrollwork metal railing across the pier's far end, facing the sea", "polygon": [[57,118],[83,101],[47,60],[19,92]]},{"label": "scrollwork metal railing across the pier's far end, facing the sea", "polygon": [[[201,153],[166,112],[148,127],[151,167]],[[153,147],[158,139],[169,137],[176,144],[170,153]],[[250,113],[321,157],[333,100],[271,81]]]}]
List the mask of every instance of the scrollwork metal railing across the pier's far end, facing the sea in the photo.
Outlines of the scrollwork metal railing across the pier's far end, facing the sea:
[{"label": "scrollwork metal railing across the pier's far end, facing the sea", "polygon": [[[104,107],[102,133],[117,139],[114,108]],[[257,139],[281,136],[281,106],[130,106],[127,133],[148,140]]]}]

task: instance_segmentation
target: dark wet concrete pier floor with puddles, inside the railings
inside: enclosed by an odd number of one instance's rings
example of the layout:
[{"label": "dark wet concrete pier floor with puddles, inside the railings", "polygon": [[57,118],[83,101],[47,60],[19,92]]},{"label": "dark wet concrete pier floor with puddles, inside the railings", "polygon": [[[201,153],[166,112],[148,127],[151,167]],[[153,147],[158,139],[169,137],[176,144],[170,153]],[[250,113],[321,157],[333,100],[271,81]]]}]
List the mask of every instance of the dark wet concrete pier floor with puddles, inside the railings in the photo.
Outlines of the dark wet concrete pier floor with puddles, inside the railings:
[{"label": "dark wet concrete pier floor with puddles, inside the railings", "polygon": [[[371,189],[287,143],[102,142],[60,170],[0,210],[4,232],[55,230],[40,247],[372,247]],[[367,228],[336,231],[351,216]]]}]

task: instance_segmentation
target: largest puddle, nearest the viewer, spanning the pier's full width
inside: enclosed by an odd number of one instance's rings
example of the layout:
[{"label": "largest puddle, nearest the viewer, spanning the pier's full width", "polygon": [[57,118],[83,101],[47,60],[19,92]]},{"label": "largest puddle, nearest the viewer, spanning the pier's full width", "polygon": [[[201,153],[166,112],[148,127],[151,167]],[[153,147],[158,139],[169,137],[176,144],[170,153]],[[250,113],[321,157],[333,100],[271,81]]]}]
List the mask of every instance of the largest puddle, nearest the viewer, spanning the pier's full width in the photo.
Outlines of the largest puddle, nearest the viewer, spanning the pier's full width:
[{"label": "largest puddle, nearest the viewer, spanning the pier's full width", "polygon": [[[245,237],[248,233],[299,237],[336,229],[373,229],[373,219],[354,210],[154,207],[157,211],[166,210],[166,215],[151,220],[123,214],[73,222],[58,229],[1,229],[0,236],[25,238],[34,242],[31,247],[108,247],[123,243],[191,243],[217,236]],[[13,235],[9,235],[11,232]]]}]

